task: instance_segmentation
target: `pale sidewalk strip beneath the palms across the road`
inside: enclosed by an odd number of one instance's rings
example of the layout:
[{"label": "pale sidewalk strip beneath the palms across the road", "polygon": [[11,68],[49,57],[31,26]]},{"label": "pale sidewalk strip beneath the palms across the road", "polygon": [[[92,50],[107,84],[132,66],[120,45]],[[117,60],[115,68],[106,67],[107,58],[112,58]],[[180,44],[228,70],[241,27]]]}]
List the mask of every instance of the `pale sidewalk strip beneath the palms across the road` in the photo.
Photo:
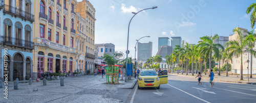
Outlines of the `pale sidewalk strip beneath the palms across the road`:
[{"label": "pale sidewalk strip beneath the palms across the road", "polygon": [[[191,73],[189,73],[188,75],[186,75],[185,73],[183,73],[183,75],[181,75],[181,73],[179,74],[172,74],[172,73],[168,73],[168,75],[176,75],[176,76],[182,76],[182,77],[189,77],[189,78],[195,78],[197,76],[197,74],[194,74],[194,76],[192,76]],[[204,80],[210,80],[209,78],[209,74],[201,74],[202,75],[202,79]],[[215,74],[214,80],[215,81],[222,81],[222,82],[231,82],[231,83],[242,83],[242,84],[256,84],[256,78],[249,78],[249,82],[248,82],[248,78],[247,76],[243,76],[243,81],[239,80],[239,77],[234,77],[234,76],[219,76]]]}]

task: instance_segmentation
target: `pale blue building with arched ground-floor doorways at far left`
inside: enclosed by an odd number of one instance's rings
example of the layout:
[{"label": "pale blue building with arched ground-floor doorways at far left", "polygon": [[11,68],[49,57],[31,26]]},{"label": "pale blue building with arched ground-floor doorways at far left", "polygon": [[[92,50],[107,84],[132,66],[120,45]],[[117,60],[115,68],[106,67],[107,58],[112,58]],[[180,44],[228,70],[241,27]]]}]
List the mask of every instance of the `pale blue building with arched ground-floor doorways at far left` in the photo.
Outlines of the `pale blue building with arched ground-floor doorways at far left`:
[{"label": "pale blue building with arched ground-floor doorways at far left", "polygon": [[0,1],[0,80],[4,73],[8,81],[32,77],[33,5],[32,0]]}]

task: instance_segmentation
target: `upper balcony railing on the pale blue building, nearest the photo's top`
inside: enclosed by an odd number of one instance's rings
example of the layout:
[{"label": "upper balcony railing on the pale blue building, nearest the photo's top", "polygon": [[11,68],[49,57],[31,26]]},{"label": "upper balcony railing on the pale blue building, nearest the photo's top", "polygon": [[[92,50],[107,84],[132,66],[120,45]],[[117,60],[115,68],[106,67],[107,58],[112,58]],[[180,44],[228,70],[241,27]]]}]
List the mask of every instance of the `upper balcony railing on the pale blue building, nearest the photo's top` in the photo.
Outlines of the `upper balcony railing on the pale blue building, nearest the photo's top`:
[{"label": "upper balcony railing on the pale blue building, nearest the photo's top", "polygon": [[31,13],[28,13],[26,11],[23,11],[22,9],[18,9],[9,5],[4,5],[4,11],[3,13],[9,13],[14,16],[19,16],[21,18],[27,19],[31,22],[34,22],[34,15]]}]

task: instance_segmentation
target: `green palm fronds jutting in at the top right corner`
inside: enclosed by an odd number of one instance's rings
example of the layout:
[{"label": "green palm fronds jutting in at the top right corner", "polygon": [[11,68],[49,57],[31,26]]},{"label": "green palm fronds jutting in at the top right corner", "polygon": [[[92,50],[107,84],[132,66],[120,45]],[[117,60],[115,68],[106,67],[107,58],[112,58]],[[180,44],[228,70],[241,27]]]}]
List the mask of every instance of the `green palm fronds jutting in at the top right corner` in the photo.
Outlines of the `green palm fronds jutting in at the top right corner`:
[{"label": "green palm fronds jutting in at the top right corner", "polygon": [[250,20],[251,20],[251,28],[254,27],[255,25],[255,19],[256,19],[256,3],[251,4],[247,9],[246,9],[246,14],[250,14]]}]

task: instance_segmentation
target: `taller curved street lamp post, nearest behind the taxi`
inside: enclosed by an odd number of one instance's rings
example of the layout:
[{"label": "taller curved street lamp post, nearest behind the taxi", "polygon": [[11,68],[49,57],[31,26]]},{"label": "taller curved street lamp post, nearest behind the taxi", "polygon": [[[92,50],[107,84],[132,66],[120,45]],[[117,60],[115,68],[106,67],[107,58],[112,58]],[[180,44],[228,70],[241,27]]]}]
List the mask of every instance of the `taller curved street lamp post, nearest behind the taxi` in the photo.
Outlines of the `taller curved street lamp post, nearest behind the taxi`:
[{"label": "taller curved street lamp post, nearest behind the taxi", "polygon": [[[157,7],[153,7],[153,8],[147,8],[147,9],[156,9]],[[147,9],[143,9],[143,10],[141,10],[141,11],[144,11],[144,10],[147,10]],[[139,12],[141,12],[141,11],[139,11]],[[134,16],[136,15],[136,14],[138,14],[139,12],[137,12],[137,13],[135,13],[135,12],[132,12],[133,14],[134,14]],[[134,17],[133,16],[133,17]],[[129,44],[129,28],[130,28],[130,23],[131,23],[131,21],[132,21],[132,19],[133,19],[133,17],[131,18],[131,20],[130,20],[130,22],[129,22],[129,25],[128,25],[128,35],[127,35],[127,50],[126,50],[126,67],[125,67],[125,82],[127,82],[127,57],[128,57],[128,54],[129,54],[129,51],[128,51],[128,44]]]}]

